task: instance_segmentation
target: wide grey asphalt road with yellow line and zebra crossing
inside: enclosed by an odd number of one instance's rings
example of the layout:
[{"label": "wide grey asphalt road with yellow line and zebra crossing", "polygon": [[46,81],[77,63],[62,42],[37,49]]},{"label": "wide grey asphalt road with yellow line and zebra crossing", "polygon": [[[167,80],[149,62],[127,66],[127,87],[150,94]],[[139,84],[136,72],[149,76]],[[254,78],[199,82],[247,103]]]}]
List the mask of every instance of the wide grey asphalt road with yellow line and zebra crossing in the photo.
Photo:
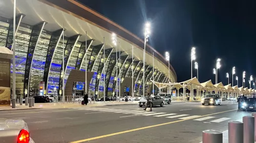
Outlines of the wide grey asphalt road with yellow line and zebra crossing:
[{"label": "wide grey asphalt road with yellow line and zebra crossing", "polygon": [[202,131],[227,130],[229,121],[250,115],[238,111],[236,101],[222,105],[198,102],[165,104],[144,111],[137,105],[0,111],[0,118],[28,123],[38,142],[191,142],[202,140]]}]

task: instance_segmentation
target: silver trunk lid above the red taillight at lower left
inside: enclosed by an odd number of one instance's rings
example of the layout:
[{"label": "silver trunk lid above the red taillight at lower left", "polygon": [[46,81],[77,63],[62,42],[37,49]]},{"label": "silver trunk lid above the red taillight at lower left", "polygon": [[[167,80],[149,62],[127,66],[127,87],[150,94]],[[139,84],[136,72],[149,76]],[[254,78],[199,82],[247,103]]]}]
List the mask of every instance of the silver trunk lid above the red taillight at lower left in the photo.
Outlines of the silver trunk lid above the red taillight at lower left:
[{"label": "silver trunk lid above the red taillight at lower left", "polygon": [[0,118],[0,130],[5,129],[26,129],[28,130],[27,123],[22,119],[5,119]]}]

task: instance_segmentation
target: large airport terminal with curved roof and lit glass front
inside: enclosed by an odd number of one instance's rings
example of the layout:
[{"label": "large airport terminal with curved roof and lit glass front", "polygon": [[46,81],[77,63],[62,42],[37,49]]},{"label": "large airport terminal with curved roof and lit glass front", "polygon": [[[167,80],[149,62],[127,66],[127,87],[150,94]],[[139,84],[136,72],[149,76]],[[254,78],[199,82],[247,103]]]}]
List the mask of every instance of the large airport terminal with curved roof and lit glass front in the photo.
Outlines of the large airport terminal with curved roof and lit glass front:
[{"label": "large airport terminal with curved roof and lit glass front", "polygon": [[[135,95],[142,95],[143,71],[146,92],[152,91],[153,74],[157,82],[177,81],[173,67],[170,65],[168,69],[163,55],[150,45],[146,45],[143,69],[144,39],[77,1],[16,1],[15,32],[13,1],[3,0],[0,7],[0,46],[12,50],[13,35],[16,37],[17,95],[38,94],[40,82],[44,83],[45,94],[61,95],[62,78],[65,78],[65,96],[72,95],[73,90],[83,93],[84,82],[88,83],[86,92],[98,97],[103,95],[104,87],[107,95],[113,95],[119,81],[121,90],[130,92],[127,88],[131,88],[133,71]],[[117,35],[117,46],[112,42],[112,33]],[[11,73],[13,68],[11,65]]]}]

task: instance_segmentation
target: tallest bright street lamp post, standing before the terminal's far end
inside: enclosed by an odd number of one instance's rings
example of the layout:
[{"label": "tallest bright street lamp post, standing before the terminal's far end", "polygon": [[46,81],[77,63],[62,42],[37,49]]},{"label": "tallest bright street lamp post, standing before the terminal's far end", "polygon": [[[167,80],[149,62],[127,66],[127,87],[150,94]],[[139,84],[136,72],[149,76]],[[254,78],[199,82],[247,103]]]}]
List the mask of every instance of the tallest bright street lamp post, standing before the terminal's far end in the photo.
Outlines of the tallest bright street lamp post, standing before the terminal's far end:
[{"label": "tallest bright street lamp post, standing before the terminal's far end", "polygon": [[145,96],[145,60],[146,60],[146,42],[150,37],[150,23],[146,22],[144,29],[144,52],[143,52],[143,96]]}]

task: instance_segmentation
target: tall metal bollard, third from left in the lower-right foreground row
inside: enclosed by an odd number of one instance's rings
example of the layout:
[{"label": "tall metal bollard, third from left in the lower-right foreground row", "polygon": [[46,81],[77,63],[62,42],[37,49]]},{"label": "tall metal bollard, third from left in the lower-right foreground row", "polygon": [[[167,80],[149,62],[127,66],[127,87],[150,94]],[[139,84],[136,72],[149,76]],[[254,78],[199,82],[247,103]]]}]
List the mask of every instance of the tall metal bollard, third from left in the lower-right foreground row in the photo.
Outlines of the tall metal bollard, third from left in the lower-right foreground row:
[{"label": "tall metal bollard, third from left in the lower-right foreground row", "polygon": [[244,116],[244,143],[254,143],[254,117]]}]

